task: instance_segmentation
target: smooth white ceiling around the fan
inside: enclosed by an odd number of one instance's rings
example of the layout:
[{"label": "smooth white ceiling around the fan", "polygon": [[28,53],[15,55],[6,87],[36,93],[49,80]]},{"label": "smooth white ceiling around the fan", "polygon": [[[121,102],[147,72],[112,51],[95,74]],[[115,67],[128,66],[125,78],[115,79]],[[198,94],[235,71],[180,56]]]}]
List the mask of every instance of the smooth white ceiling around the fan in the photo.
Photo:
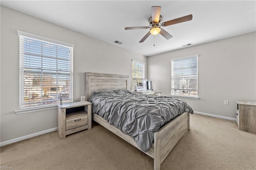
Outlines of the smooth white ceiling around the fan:
[{"label": "smooth white ceiling around the fan", "polygon": [[[145,56],[256,31],[256,1],[5,1],[1,5],[86,34]],[[149,31],[124,30],[148,26],[151,6],[161,6],[162,22],[193,15],[188,22],[166,26],[173,38],[160,34],[139,41]],[[121,45],[114,40],[123,42]]]}]

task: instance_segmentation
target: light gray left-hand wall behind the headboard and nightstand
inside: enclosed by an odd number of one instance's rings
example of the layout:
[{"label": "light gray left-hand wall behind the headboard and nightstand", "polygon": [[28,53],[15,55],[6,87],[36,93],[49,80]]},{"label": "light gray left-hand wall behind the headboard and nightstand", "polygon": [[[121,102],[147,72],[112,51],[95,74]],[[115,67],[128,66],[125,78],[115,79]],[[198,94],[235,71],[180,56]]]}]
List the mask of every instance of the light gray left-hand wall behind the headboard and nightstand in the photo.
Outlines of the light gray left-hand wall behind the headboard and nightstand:
[{"label": "light gray left-hand wall behind the headboard and nightstand", "polygon": [[17,30],[75,45],[74,101],[80,101],[80,96],[85,95],[85,72],[132,77],[132,59],[147,63],[143,55],[1,6],[1,142],[57,127],[57,109],[20,115],[14,112],[19,109]]}]

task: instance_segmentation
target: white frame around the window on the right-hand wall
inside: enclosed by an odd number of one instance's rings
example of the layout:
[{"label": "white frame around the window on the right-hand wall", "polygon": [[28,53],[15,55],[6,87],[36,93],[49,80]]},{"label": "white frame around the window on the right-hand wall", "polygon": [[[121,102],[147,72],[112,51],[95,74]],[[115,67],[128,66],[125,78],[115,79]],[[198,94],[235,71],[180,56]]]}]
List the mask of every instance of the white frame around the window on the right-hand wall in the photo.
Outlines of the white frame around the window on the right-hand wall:
[{"label": "white frame around the window on the right-hand wall", "polygon": [[[180,97],[180,98],[187,98],[187,99],[200,99],[200,97],[198,96],[198,57],[199,55],[190,55],[190,56],[186,56],[186,57],[179,57],[179,58],[175,58],[175,59],[171,59],[171,96],[173,97]],[[190,96],[190,95],[176,95],[172,93],[172,84],[173,84],[173,77],[172,77],[172,72],[173,72],[173,67],[172,67],[172,62],[173,61],[182,61],[182,60],[187,60],[187,59],[195,59],[196,58],[196,96]],[[188,84],[187,84],[188,85]],[[190,89],[188,89],[190,90]]]}]

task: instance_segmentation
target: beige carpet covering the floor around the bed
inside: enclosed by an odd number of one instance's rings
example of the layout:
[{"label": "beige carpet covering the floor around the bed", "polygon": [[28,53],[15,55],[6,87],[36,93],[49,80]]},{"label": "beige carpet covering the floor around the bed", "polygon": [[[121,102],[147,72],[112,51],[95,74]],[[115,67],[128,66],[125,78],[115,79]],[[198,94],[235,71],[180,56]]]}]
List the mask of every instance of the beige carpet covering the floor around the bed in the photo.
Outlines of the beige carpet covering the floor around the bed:
[{"label": "beige carpet covering the floor around the bed", "polygon": [[[256,134],[234,121],[191,115],[188,131],[161,165],[162,170],[255,170]],[[1,166],[18,169],[153,169],[152,158],[93,123],[60,140],[51,132],[0,148]],[[9,168],[9,167],[8,167]]]}]

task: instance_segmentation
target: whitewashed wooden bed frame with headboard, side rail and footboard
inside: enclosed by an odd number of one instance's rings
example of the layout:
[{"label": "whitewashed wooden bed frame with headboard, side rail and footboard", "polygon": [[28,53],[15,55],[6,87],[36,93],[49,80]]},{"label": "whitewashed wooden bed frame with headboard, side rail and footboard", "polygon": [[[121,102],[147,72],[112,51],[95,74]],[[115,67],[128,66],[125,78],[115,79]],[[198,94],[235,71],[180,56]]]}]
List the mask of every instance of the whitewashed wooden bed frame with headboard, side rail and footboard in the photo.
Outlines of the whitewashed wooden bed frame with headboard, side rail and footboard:
[{"label": "whitewashed wooden bed frame with headboard, side rail and footboard", "polygon": [[[87,72],[85,81],[85,99],[88,101],[94,91],[128,89],[129,76]],[[154,144],[152,144],[148,152],[144,152],[154,159],[154,170],[160,170],[160,166],[164,159],[168,156],[185,132],[190,130],[189,117],[190,113],[184,112],[154,133]],[[118,128],[110,125],[108,121],[99,115],[92,113],[92,119],[141,150],[131,136],[123,134]]]}]

